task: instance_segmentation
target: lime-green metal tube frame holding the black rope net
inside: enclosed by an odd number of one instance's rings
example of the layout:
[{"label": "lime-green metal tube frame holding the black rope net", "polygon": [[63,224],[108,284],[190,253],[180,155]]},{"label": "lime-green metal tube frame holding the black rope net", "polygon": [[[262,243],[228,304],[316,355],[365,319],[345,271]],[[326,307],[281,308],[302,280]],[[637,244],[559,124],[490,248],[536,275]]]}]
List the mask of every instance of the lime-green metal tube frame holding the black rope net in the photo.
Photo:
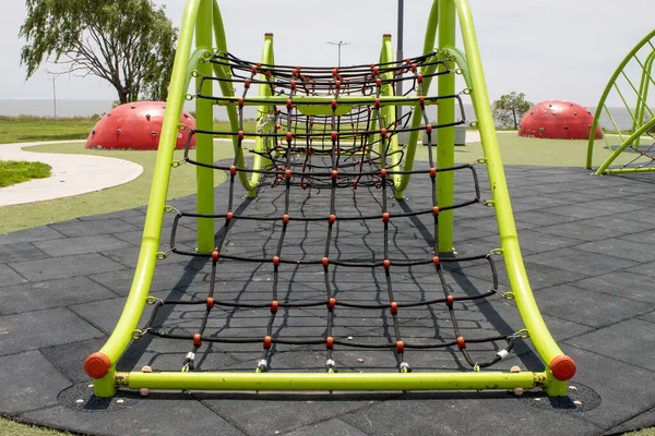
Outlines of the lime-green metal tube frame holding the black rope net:
[{"label": "lime-green metal tube frame holding the black rope net", "polygon": [[[460,28],[464,40],[464,51],[454,48],[455,28],[458,19]],[[198,49],[192,52],[191,43],[195,32]],[[94,382],[94,391],[97,397],[110,397],[115,395],[117,387],[129,387],[132,389],[147,387],[153,389],[222,389],[222,390],[480,390],[480,389],[510,389],[510,388],[533,388],[543,387],[550,396],[565,396],[567,382],[557,379],[551,372],[551,362],[555,359],[568,359],[563,356],[551,335],[549,334],[539,310],[534,300],[528,279],[523,265],[516,228],[514,225],[512,207],[508,186],[505,182],[500,152],[498,148],[496,131],[491,118],[489,98],[485,85],[483,66],[478,50],[477,38],[475,35],[473,19],[466,0],[434,0],[430,10],[424,53],[433,50],[437,35],[439,37],[438,57],[450,64],[457,64],[463,70],[468,92],[471,94],[475,112],[478,120],[479,132],[485,152],[489,183],[491,186],[492,201],[490,202],[496,209],[498,228],[500,233],[501,249],[498,254],[504,256],[510,286],[512,288],[513,299],[523,318],[525,330],[524,336],[529,336],[545,364],[545,371],[541,372],[521,372],[509,373],[502,371],[474,371],[474,372],[432,372],[432,373],[369,373],[369,374],[307,374],[307,373],[227,373],[227,372],[155,372],[142,373],[139,371],[117,372],[116,362],[121,358],[130,341],[132,334],[138,327],[144,306],[147,301],[156,259],[163,257],[158,253],[163,214],[166,209],[166,193],[170,169],[174,166],[172,152],[175,149],[178,120],[182,110],[182,104],[186,97],[187,86],[193,71],[200,74],[209,74],[209,63],[205,63],[205,53],[209,50],[212,40],[212,33],[215,37],[217,50],[226,51],[227,45],[221,17],[221,11],[214,0],[188,0],[182,25],[180,29],[180,39],[176,55],[175,68],[170,84],[167,111],[164,118],[159,150],[155,165],[155,174],[145,220],[145,229],[139,262],[130,294],[126,302],[123,312],[117,324],[116,329],[100,349],[99,353],[108,358],[110,362],[109,372],[102,378]],[[380,56],[381,61],[393,60],[393,48],[391,38],[384,37]],[[266,35],[264,49],[262,52],[262,63],[273,63],[273,36]],[[424,74],[434,71],[430,68],[422,71]],[[214,74],[226,76],[227,71],[221,68],[214,68]],[[439,93],[454,94],[454,80],[441,78],[450,75],[441,75],[438,80]],[[209,81],[205,81],[209,82]],[[430,86],[430,80],[425,80],[425,86]],[[204,86],[211,86],[204,84]],[[224,96],[234,96],[233,89],[222,86]],[[271,96],[265,87],[260,88],[258,100],[265,99],[266,104],[260,104],[260,111],[267,113],[270,105],[284,104],[279,97]],[[294,102],[302,105],[325,105],[329,106],[332,97],[297,97]],[[343,97],[342,102],[347,102],[348,97]],[[356,98],[353,98],[356,100]],[[361,98],[359,98],[361,100]],[[421,122],[421,109],[417,101],[410,98],[401,99],[393,96],[391,86],[383,89],[381,97],[383,107],[383,117],[386,121],[393,122],[395,111],[393,105],[402,104],[414,106],[415,113],[412,120],[413,126],[419,126]],[[385,105],[386,101],[386,105]],[[227,112],[231,129],[238,130],[238,117],[236,112],[236,98],[227,104]],[[372,102],[372,101],[371,101]],[[246,102],[248,104],[248,102]],[[434,102],[432,102],[434,104]],[[341,106],[341,105],[340,105]],[[209,126],[212,117],[212,105],[198,102],[198,125]],[[454,105],[440,102],[438,121],[439,123],[454,122]],[[440,129],[438,133],[438,166],[449,167],[453,162],[454,154],[454,129]],[[410,170],[414,162],[418,132],[413,131],[409,143],[405,149],[405,161],[403,167]],[[235,138],[235,150],[240,153]],[[397,149],[397,142],[392,141],[392,148]],[[255,147],[263,149],[264,144],[258,141]],[[211,142],[198,142],[198,160],[211,162],[213,159]],[[242,155],[239,156],[242,164]],[[255,167],[261,168],[265,162],[263,159],[254,161]],[[243,172],[240,172],[242,174]],[[444,172],[445,173],[445,172]],[[448,172],[452,173],[452,172]],[[441,175],[441,174],[440,174]],[[213,179],[212,175],[199,169],[198,173],[199,211],[213,213]],[[253,178],[240,179],[243,186],[251,195],[254,195],[258,180]],[[396,184],[396,196],[402,197],[402,192],[409,181],[408,175],[403,175],[394,180]],[[449,203],[452,199],[453,179],[452,177],[441,177],[439,179],[438,202]],[[452,245],[452,216],[444,214],[440,216],[440,245],[442,251],[451,251]],[[212,225],[213,226],[213,225]],[[199,249],[211,247],[213,244],[213,227],[209,223],[199,226]],[[206,249],[205,249],[206,250]],[[570,361],[572,363],[572,361]]]}]

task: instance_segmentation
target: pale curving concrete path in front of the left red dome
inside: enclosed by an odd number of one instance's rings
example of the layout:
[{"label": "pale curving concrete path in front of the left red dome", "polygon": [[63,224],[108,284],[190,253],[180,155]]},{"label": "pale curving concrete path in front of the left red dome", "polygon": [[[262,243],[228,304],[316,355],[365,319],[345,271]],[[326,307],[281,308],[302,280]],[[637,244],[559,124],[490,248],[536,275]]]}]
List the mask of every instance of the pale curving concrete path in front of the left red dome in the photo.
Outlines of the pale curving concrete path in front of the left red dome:
[{"label": "pale curving concrete path in front of the left red dome", "polygon": [[[143,172],[138,164],[111,157],[33,153],[23,148],[72,141],[0,144],[0,159],[48,164],[52,175],[13,186],[0,187],[0,206],[44,202],[102,191],[136,179]],[[83,143],[83,141],[80,141]]]}]

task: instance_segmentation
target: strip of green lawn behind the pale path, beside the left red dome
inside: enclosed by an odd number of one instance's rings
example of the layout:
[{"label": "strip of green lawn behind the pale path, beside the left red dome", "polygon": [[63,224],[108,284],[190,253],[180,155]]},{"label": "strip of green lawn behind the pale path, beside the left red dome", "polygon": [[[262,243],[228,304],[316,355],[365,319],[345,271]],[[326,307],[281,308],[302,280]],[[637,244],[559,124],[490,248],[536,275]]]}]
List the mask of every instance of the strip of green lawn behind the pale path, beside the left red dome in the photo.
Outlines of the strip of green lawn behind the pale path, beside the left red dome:
[{"label": "strip of green lawn behind the pale path, beside the left red dome", "polygon": [[[86,140],[96,118],[41,118],[0,116],[0,144],[39,141]],[[243,121],[246,132],[254,132],[255,121]],[[215,121],[215,131],[229,131],[227,121]]]}]

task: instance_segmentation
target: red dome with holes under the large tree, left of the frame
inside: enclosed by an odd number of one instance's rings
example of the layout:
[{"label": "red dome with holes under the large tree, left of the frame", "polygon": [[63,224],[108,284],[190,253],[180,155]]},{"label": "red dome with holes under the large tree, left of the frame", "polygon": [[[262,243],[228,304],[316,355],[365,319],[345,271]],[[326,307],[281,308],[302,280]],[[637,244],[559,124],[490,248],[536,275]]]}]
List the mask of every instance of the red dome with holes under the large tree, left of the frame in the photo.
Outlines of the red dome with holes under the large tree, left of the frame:
[{"label": "red dome with holes under the large tree, left of the frame", "polygon": [[[133,101],[117,106],[98,120],[86,138],[86,148],[153,150],[159,146],[166,101]],[[195,129],[186,110],[180,124]],[[176,148],[184,148],[190,131],[178,131]],[[195,147],[195,136],[191,137]]]}]

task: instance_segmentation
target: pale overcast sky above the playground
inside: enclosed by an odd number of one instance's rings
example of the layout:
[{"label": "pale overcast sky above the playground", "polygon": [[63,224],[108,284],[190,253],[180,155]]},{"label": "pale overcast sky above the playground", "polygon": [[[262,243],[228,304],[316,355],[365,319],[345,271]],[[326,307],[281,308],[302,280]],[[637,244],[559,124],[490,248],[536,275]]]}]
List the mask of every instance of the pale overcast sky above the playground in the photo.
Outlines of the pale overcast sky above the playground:
[{"label": "pale overcast sky above the playground", "polygon": [[[182,0],[155,0],[174,25]],[[431,0],[405,0],[404,55],[422,48]],[[396,0],[218,0],[228,49],[257,61],[264,33],[272,32],[276,62],[342,64],[377,61],[382,34],[396,33]],[[531,101],[562,99],[595,106],[626,53],[653,29],[653,0],[469,0],[491,100],[512,90]],[[25,44],[19,29],[26,17],[22,0],[0,0],[0,99],[49,99],[52,63],[28,81],[20,65]],[[461,46],[461,44],[460,44]],[[115,100],[115,89],[96,77],[59,76],[58,99]],[[611,102],[610,102],[611,104]]]}]

